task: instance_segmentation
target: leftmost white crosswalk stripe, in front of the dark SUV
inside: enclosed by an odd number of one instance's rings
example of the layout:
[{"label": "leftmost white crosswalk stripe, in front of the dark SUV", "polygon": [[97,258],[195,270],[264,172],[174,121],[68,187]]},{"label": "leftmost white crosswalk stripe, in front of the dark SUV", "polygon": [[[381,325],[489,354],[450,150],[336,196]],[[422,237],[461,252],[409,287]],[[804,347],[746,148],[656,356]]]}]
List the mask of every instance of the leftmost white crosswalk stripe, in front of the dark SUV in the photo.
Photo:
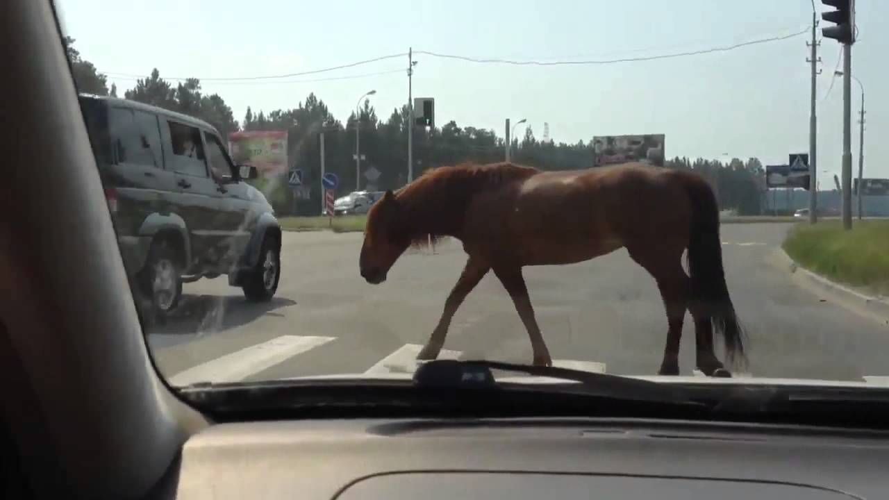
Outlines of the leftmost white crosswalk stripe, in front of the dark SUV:
[{"label": "leftmost white crosswalk stripe, in front of the dark SUV", "polygon": [[282,335],[268,342],[258,343],[190,367],[172,375],[169,381],[172,385],[198,382],[237,382],[266,368],[274,367],[297,354],[311,351],[335,338],[314,335]]}]

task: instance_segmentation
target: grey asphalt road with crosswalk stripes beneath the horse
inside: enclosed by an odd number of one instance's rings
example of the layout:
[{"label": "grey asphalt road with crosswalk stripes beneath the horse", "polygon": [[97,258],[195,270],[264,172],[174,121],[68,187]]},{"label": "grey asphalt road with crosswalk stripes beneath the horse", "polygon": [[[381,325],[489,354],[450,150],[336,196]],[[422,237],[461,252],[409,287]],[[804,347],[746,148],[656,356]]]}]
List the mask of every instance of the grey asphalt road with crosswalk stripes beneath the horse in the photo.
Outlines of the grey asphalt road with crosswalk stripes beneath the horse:
[{"label": "grey asphalt road with crosswalk stripes beneath the horse", "polygon": [[[726,279],[749,334],[752,376],[861,380],[889,375],[889,323],[797,286],[773,256],[789,224],[725,224]],[[379,286],[358,275],[360,233],[284,234],[272,302],[245,302],[226,278],[185,286],[177,317],[147,334],[172,383],[410,371],[465,254],[456,241],[405,254]],[[657,287],[626,251],[567,266],[525,268],[557,365],[654,375],[667,320]],[[691,375],[686,316],[680,369]],[[721,348],[717,355],[722,357]],[[489,273],[453,320],[441,357],[531,361],[508,294]]]}]

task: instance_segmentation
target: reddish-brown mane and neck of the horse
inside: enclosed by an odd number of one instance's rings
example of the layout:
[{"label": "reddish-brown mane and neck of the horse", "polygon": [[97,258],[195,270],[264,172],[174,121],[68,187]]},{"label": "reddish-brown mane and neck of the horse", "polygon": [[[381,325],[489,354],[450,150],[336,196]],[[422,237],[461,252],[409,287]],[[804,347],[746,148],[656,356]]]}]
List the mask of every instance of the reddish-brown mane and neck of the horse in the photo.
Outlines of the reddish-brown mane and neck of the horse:
[{"label": "reddish-brown mane and neck of the horse", "polygon": [[540,171],[509,162],[464,162],[428,170],[395,193],[411,246],[428,246],[429,242],[453,236],[462,228],[469,202],[478,192],[524,180],[535,173]]}]

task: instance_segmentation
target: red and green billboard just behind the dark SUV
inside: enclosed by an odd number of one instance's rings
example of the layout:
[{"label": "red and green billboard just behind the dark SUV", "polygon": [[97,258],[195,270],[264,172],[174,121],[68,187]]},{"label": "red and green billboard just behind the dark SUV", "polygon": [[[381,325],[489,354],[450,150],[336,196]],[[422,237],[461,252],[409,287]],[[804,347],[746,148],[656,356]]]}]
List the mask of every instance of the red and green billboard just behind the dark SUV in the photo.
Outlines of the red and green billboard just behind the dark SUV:
[{"label": "red and green billboard just behind the dark SUV", "polygon": [[261,178],[284,176],[287,173],[287,132],[229,133],[228,154],[236,163],[255,166]]}]

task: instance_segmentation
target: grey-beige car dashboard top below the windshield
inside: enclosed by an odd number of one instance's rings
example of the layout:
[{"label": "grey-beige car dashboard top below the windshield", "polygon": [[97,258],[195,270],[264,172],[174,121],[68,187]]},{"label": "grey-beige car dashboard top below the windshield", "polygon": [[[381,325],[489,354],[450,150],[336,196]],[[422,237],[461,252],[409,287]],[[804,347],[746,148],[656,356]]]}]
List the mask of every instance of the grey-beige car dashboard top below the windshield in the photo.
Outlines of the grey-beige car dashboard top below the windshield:
[{"label": "grey-beige car dashboard top below the windshield", "polygon": [[889,433],[615,419],[220,423],[176,498],[884,498]]}]

